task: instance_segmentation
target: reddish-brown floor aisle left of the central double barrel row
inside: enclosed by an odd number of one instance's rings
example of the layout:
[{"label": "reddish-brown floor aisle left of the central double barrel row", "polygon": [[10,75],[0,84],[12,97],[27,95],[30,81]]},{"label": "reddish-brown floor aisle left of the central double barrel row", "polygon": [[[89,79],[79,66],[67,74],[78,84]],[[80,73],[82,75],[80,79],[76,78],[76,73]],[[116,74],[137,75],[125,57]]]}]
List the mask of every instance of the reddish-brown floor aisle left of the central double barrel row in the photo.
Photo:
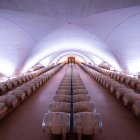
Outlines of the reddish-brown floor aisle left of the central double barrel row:
[{"label": "reddish-brown floor aisle left of the central double barrel row", "polygon": [[[67,66],[0,122],[0,140],[46,140],[41,122]],[[48,140],[48,139],[47,139]]]}]

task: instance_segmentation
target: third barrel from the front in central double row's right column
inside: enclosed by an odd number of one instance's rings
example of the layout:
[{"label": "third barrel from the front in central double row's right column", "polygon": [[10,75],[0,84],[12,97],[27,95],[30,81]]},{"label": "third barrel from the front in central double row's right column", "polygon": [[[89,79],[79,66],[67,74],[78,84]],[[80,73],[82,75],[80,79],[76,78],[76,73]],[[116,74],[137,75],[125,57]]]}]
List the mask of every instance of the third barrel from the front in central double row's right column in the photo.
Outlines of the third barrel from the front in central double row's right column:
[{"label": "third barrel from the front in central double row's right column", "polygon": [[90,96],[86,94],[73,95],[73,103],[80,101],[90,101]]}]

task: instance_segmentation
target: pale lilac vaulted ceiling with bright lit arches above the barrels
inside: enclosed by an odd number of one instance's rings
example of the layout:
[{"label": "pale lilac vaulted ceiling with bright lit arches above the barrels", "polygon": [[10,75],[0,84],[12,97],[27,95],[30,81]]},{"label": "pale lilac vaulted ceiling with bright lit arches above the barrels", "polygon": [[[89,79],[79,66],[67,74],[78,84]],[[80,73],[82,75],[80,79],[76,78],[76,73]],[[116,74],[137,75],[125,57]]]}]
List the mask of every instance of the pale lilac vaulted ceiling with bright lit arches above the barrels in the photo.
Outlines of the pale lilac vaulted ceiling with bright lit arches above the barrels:
[{"label": "pale lilac vaulted ceiling with bright lit arches above the barrels", "polygon": [[50,63],[76,52],[137,73],[139,5],[139,0],[1,0],[0,72],[24,72],[43,58]]}]

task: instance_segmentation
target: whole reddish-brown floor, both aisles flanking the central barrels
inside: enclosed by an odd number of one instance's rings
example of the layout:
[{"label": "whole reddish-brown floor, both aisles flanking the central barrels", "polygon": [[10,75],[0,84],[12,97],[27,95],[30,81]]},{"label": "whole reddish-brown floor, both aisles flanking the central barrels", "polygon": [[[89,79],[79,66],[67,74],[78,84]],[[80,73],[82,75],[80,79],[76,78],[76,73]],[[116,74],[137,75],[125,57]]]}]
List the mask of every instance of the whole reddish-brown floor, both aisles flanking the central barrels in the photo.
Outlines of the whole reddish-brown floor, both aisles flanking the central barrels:
[{"label": "whole reddish-brown floor, both aisles flanking the central barrels", "polygon": [[[140,119],[128,111],[93,78],[76,66],[81,79],[101,113],[103,132],[95,140],[139,140]],[[62,80],[67,66],[62,68],[34,95],[0,122],[0,140],[49,140],[41,129],[42,117]],[[55,139],[59,139],[55,137]],[[84,139],[87,139],[86,137]]]}]

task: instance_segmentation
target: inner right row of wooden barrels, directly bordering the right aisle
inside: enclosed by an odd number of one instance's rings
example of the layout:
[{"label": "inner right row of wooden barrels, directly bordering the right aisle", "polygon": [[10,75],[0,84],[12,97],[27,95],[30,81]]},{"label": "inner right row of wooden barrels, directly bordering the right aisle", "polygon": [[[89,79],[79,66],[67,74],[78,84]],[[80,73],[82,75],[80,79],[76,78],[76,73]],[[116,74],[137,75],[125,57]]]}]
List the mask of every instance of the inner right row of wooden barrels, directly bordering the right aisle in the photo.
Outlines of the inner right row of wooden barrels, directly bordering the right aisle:
[{"label": "inner right row of wooden barrels, directly bordering the right aisle", "polygon": [[136,116],[140,117],[140,94],[83,64],[79,65],[98,83],[100,83],[100,85],[102,85],[110,94],[116,97],[116,99],[122,102],[127,108],[132,110]]}]

